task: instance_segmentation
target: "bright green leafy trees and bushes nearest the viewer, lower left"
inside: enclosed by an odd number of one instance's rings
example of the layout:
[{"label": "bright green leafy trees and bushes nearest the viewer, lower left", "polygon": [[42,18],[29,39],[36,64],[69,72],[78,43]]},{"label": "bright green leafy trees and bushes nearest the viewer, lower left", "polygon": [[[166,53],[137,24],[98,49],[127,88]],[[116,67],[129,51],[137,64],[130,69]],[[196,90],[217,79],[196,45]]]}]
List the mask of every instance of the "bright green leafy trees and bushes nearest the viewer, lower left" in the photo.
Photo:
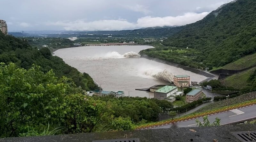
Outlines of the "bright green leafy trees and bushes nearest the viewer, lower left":
[{"label": "bright green leafy trees and bushes nearest the viewer, lower left", "polygon": [[82,95],[68,78],[26,70],[13,63],[0,66],[0,137],[27,135],[65,127],[68,133],[131,130],[129,117],[114,117],[112,104]]}]

